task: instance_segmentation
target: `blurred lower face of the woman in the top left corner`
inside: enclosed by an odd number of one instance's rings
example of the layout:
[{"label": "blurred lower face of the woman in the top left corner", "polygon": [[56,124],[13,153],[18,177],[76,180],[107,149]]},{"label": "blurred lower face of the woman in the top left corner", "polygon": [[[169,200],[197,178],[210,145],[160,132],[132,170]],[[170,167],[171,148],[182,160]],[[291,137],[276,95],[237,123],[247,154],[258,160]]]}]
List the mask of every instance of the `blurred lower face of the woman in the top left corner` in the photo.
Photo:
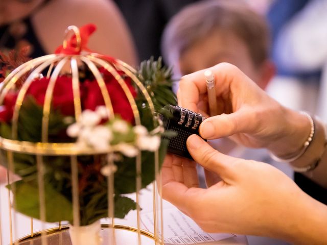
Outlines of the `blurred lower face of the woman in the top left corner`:
[{"label": "blurred lower face of the woman in the top left corner", "polygon": [[29,15],[44,0],[0,0],[0,24]]}]

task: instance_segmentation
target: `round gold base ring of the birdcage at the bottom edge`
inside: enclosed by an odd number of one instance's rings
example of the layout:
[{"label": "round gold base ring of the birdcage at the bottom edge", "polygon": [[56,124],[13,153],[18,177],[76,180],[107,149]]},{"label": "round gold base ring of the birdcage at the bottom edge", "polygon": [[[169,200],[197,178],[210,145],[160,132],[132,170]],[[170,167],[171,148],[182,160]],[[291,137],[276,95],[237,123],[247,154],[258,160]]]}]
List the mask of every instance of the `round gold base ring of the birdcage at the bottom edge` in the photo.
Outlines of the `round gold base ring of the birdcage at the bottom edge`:
[{"label": "round gold base ring of the birdcage at the bottom edge", "polygon": [[[109,229],[111,229],[111,225],[108,224],[101,224],[101,231],[100,235],[102,237],[102,244],[111,245],[109,241]],[[42,237],[41,234],[43,233],[46,239],[46,243],[48,245],[72,245],[71,238],[69,236],[69,226],[62,226],[60,229],[52,228],[48,230],[44,230],[42,232],[36,232],[31,235],[25,236],[20,238],[15,244],[18,245],[42,245]],[[135,244],[138,245],[137,242],[137,228],[126,226],[126,225],[115,225],[114,226],[116,241],[112,245],[126,245],[126,238],[129,239],[128,244]],[[143,244],[162,244],[160,241],[155,242],[154,234],[147,231],[147,230],[140,230],[141,233],[141,240]],[[131,239],[133,238],[135,239]],[[125,239],[125,240],[124,240]],[[133,240],[133,243],[130,243]],[[140,245],[141,245],[140,244]]]}]

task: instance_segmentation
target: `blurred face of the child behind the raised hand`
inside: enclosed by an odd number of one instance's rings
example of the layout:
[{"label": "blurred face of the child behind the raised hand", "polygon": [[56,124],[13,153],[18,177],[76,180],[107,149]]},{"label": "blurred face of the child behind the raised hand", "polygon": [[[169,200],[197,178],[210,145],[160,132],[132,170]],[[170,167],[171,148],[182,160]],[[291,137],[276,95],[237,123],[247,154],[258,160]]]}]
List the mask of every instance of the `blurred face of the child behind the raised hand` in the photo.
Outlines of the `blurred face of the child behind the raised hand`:
[{"label": "blurred face of the child behind the raised hand", "polygon": [[215,31],[194,42],[181,54],[179,68],[183,76],[221,62],[238,66],[259,86],[265,87],[261,67],[255,67],[245,43],[231,32]]}]

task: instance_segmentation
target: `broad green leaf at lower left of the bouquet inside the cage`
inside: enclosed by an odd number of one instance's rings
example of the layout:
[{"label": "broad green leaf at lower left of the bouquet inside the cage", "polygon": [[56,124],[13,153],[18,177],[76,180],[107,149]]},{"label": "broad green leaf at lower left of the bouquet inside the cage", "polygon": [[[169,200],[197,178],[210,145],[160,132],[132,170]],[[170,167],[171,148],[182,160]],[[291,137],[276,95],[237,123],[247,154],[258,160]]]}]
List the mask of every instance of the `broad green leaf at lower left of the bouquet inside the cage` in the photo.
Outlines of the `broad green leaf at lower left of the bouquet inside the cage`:
[{"label": "broad green leaf at lower left of the bouquet inside the cage", "polygon": [[[14,183],[14,203],[18,212],[40,219],[39,188],[35,182],[19,180]],[[62,194],[54,190],[48,183],[44,185],[45,212],[47,222],[73,220],[72,203]]]}]

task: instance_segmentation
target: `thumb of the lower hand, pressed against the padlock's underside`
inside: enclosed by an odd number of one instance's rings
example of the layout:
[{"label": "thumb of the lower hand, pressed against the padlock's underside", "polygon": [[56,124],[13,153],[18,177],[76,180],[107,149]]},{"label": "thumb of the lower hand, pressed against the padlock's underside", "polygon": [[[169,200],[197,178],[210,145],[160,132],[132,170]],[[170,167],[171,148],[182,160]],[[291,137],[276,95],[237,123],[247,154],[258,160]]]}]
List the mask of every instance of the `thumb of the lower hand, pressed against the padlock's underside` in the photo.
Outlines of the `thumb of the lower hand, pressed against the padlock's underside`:
[{"label": "thumb of the lower hand, pressed against the padlock's underside", "polygon": [[239,159],[216,151],[196,134],[188,138],[186,145],[193,159],[205,169],[213,171],[227,182],[236,178],[237,171],[234,169]]}]

